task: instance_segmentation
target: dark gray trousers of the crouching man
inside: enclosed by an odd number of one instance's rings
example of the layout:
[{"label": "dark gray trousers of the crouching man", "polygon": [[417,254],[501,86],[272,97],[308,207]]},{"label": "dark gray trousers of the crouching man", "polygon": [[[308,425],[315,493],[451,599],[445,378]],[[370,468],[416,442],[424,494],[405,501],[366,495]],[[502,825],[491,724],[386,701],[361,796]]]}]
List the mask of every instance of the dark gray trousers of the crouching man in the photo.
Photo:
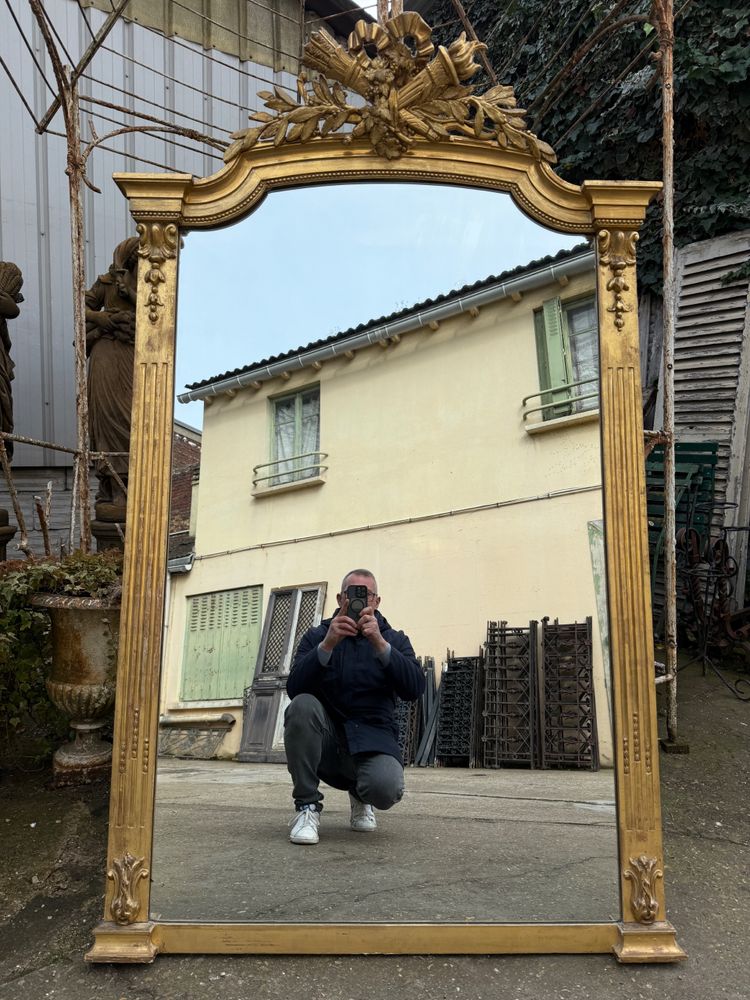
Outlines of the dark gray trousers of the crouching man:
[{"label": "dark gray trousers of the crouching man", "polygon": [[404,794],[401,763],[387,753],[350,754],[325,708],[311,694],[298,694],[287,706],[284,748],[296,809],[313,804],[322,809],[321,781],[376,809],[390,809]]}]

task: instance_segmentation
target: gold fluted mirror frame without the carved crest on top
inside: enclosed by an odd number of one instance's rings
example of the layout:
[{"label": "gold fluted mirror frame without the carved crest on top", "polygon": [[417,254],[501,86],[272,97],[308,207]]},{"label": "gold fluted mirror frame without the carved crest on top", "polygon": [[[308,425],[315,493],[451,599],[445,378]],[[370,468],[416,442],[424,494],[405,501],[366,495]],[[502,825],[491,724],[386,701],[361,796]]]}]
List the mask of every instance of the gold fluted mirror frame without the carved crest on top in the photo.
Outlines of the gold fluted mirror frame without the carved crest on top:
[{"label": "gold fluted mirror frame without the carved crest on top", "polygon": [[[461,131],[437,139],[418,135],[395,155],[392,146],[373,148],[371,137],[358,138],[356,128],[347,136],[311,136],[308,129],[301,142],[235,150],[211,177],[115,175],[140,234],[140,291],[107,892],[90,961],[149,962],[159,953],[197,952],[614,952],[622,962],[684,957],[665,918],[636,298],[637,230],[661,185],[590,181],[578,187],[562,181],[545,162],[549,157],[539,155],[531,142],[490,143],[484,134]],[[419,181],[507,192],[543,225],[595,238],[619,922],[261,925],[149,920],[180,232],[237,221],[275,189],[344,181]]]}]

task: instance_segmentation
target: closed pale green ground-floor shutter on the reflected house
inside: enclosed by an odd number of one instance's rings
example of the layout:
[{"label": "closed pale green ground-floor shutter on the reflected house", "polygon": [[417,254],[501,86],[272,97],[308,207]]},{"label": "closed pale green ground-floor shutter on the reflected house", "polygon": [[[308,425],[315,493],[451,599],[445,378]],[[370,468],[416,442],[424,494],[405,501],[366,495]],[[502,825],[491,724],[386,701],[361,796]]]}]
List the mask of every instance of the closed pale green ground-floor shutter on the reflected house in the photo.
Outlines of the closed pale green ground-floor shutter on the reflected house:
[{"label": "closed pale green ground-floor shutter on the reflected house", "polygon": [[262,587],[189,598],[181,701],[241,698],[260,645]]}]

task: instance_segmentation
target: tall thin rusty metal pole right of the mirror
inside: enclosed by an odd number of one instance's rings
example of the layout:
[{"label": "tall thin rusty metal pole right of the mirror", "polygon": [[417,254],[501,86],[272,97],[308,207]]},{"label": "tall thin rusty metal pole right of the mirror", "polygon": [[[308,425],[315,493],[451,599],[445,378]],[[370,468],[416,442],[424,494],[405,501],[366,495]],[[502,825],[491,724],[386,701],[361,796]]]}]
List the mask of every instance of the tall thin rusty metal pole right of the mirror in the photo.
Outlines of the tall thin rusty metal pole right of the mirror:
[{"label": "tall thin rusty metal pole right of the mirror", "polygon": [[663,279],[664,346],[664,645],[667,681],[667,739],[665,749],[677,747],[677,551],[675,544],[674,448],[674,8],[672,0],[655,0],[652,15],[659,32],[662,89]]}]

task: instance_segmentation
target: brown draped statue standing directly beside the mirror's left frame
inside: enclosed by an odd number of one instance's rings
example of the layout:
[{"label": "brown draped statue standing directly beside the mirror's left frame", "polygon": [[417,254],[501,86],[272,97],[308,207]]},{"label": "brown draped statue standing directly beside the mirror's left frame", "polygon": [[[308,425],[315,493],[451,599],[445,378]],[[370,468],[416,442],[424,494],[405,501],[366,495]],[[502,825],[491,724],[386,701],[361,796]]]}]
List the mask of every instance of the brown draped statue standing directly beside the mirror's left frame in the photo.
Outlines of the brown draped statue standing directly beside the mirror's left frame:
[{"label": "brown draped statue standing directly beside the mirror's left frame", "polygon": [[[89,358],[89,439],[92,451],[125,452],[130,447],[133,401],[135,305],[138,237],[118,243],[107,274],[86,292],[86,352]],[[96,518],[125,520],[125,494],[112,470],[127,487],[128,458],[96,463],[99,489]]]}]

